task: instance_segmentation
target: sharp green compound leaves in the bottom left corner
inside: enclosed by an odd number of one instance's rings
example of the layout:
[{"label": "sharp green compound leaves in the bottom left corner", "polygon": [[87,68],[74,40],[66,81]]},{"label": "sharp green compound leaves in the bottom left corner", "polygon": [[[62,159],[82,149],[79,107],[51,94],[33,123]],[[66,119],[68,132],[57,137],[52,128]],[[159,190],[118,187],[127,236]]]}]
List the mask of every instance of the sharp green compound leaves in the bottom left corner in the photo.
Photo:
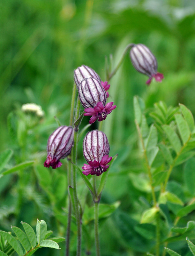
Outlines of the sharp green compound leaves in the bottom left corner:
[{"label": "sharp green compound leaves in the bottom left corner", "polygon": [[[57,243],[64,241],[63,237],[53,237],[45,239],[52,234],[52,231],[47,231],[47,224],[44,220],[37,220],[36,235],[33,228],[25,222],[22,222],[24,231],[18,227],[11,227],[15,233],[15,237],[10,234],[10,232],[0,231],[0,255],[11,255],[12,249],[19,255],[33,255],[34,252],[41,247],[49,247],[54,249],[60,249]],[[21,246],[22,245],[22,246]],[[7,252],[7,247],[11,246],[9,252]],[[23,248],[25,252],[23,251]]]}]

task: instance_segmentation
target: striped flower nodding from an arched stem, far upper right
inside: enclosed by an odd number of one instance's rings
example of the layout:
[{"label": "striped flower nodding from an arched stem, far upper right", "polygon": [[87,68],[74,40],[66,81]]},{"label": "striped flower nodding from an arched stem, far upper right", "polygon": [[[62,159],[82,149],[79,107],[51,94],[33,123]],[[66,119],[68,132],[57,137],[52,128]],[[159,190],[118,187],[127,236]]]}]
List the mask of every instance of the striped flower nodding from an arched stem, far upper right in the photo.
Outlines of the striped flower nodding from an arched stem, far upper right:
[{"label": "striped flower nodding from an arched stem, far upper right", "polygon": [[157,82],[164,78],[163,74],[157,72],[157,60],[144,44],[135,44],[130,51],[130,58],[134,68],[142,74],[149,76],[146,84],[150,84],[154,77]]}]

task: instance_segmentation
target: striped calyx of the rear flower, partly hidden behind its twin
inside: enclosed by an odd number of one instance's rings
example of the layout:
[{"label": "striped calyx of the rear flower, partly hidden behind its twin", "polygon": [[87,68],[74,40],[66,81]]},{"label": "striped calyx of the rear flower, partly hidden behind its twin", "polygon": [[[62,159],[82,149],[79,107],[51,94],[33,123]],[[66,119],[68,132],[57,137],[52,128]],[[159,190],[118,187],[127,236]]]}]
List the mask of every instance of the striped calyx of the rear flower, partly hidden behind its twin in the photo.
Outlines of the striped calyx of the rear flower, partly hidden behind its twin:
[{"label": "striped calyx of the rear flower, partly hidden behind its twin", "polygon": [[90,77],[97,79],[101,83],[100,76],[92,68],[89,68],[86,65],[82,65],[74,70],[74,81],[75,81],[75,84],[77,85],[77,88],[79,88],[80,83],[85,78],[90,78]]}]

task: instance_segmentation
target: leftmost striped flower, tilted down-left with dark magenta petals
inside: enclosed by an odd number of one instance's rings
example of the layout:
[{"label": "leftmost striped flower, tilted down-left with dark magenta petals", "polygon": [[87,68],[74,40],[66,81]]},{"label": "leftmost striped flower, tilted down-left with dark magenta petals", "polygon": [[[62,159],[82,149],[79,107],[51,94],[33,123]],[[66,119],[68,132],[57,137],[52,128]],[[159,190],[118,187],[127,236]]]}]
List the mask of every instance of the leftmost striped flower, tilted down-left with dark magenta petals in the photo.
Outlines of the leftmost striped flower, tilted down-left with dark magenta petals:
[{"label": "leftmost striped flower, tilted down-left with dark magenta petals", "polygon": [[60,159],[71,153],[74,142],[74,130],[71,126],[60,126],[50,136],[47,143],[47,159],[45,167],[51,166],[53,169],[60,167]]}]

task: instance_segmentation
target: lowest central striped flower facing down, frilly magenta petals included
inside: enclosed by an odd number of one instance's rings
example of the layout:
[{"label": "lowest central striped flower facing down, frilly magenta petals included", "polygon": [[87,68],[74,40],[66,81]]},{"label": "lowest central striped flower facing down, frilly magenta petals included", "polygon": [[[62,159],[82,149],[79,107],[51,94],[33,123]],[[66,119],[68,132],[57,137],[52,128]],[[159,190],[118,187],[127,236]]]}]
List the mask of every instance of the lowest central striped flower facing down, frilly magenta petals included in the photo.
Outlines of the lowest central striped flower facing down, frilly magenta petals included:
[{"label": "lowest central striped flower facing down, frilly magenta petals included", "polygon": [[82,167],[84,175],[100,176],[109,168],[109,162],[112,157],[109,157],[109,142],[104,132],[93,130],[87,132],[83,140],[83,155],[87,161]]}]

